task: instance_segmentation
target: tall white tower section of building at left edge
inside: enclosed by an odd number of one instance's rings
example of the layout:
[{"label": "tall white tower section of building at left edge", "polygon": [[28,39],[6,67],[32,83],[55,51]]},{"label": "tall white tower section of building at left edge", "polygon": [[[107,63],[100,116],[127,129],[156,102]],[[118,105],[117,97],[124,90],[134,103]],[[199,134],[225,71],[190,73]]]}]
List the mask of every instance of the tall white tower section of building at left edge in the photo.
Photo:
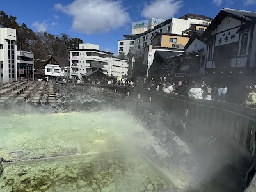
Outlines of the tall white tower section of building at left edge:
[{"label": "tall white tower section of building at left edge", "polygon": [[0,82],[17,80],[16,30],[0,28]]}]

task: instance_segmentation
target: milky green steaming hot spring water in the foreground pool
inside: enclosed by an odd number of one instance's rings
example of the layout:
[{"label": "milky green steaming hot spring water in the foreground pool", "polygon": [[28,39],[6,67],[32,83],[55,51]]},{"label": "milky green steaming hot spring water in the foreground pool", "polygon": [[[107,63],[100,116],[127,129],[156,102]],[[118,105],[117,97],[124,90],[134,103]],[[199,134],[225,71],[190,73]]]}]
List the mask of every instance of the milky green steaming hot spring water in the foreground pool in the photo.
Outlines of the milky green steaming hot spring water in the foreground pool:
[{"label": "milky green steaming hot spring water in the foreground pool", "polygon": [[[0,191],[173,188],[136,152],[138,145],[155,141],[124,112],[12,115],[0,116],[0,122],[0,156],[26,159],[3,164]],[[145,139],[134,138],[134,132],[141,131],[146,132]],[[108,153],[113,149],[118,153]],[[90,155],[93,152],[99,154]],[[56,155],[62,157],[51,157]],[[44,158],[28,160],[35,157]]]}]

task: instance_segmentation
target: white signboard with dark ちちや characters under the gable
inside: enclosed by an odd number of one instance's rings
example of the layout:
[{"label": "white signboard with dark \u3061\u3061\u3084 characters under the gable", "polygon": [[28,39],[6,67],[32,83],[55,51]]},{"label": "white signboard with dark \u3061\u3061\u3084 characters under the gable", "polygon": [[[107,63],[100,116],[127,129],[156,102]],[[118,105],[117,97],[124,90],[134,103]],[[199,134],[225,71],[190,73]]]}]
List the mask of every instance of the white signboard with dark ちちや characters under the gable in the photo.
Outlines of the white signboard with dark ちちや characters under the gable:
[{"label": "white signboard with dark \u3061\u3061\u3084 characters under the gable", "polygon": [[231,29],[229,31],[225,31],[223,33],[219,33],[216,35],[216,43],[215,47],[220,45],[232,44],[234,42],[238,42],[239,33],[236,33],[239,28]]}]

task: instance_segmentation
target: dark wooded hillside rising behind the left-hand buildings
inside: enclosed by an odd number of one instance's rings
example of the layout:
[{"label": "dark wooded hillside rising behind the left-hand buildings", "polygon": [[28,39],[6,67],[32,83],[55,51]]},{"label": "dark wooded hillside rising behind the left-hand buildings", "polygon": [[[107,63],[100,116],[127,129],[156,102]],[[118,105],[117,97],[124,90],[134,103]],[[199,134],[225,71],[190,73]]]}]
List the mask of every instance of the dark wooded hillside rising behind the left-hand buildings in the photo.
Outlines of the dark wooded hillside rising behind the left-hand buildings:
[{"label": "dark wooded hillside rising behind the left-hand buildings", "polygon": [[18,24],[16,17],[0,11],[0,27],[17,30],[17,49],[32,51],[35,56],[35,68],[43,68],[50,55],[68,58],[68,50],[83,43],[79,38],[71,38],[65,33],[53,35],[45,31],[34,32],[26,24]]}]

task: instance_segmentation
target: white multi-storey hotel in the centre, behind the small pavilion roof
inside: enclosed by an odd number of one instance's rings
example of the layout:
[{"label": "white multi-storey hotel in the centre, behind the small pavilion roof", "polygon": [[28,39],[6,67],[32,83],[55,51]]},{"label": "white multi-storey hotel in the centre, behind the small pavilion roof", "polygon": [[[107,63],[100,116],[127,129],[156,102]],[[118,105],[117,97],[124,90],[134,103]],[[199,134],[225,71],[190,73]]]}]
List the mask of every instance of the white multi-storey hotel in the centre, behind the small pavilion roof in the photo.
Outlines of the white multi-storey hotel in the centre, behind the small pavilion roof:
[{"label": "white multi-storey hotel in the centre, behind the small pavilion roof", "polygon": [[128,60],[113,56],[112,52],[100,51],[99,45],[79,44],[79,49],[70,51],[70,78],[81,79],[83,74],[91,71],[92,62],[102,63],[104,74],[127,76]]}]

